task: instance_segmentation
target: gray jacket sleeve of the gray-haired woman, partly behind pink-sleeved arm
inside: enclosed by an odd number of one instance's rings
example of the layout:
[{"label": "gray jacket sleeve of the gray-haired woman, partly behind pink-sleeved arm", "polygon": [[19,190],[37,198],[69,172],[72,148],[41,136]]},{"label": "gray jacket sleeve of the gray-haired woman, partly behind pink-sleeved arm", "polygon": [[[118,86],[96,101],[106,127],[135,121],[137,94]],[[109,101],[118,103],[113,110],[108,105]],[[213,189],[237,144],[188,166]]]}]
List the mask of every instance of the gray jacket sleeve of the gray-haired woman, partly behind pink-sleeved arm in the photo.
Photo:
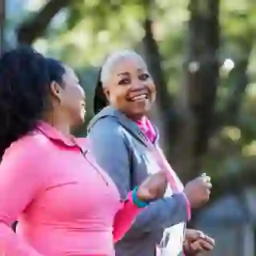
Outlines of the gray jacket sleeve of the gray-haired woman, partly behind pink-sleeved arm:
[{"label": "gray jacket sleeve of the gray-haired woman, partly behind pink-sleeved arm", "polygon": [[[102,128],[104,127],[104,128]],[[121,198],[126,198],[130,191],[130,149],[126,138],[114,122],[103,119],[94,124],[88,134],[92,151],[98,164],[113,178]],[[142,170],[145,171],[145,170]],[[138,214],[126,238],[137,238],[150,232],[155,241],[162,238],[163,230],[190,218],[185,194],[174,194],[162,198]]]}]

